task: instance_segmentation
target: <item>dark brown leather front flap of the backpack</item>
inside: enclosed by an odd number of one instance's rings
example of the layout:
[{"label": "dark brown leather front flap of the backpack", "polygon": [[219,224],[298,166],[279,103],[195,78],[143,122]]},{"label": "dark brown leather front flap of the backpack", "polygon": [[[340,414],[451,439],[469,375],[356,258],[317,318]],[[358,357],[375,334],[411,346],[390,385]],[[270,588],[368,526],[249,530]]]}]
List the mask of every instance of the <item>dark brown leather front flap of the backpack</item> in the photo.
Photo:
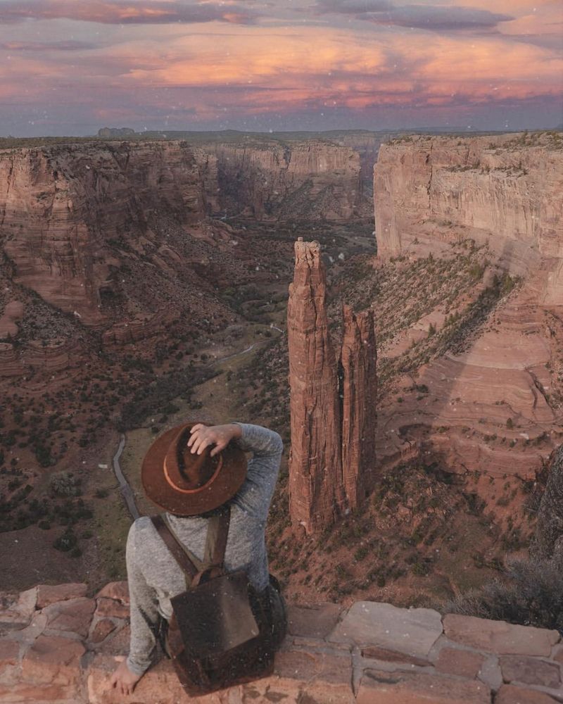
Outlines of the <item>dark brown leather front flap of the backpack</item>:
[{"label": "dark brown leather front flap of the backpack", "polygon": [[239,570],[173,597],[186,650],[213,659],[256,638],[260,628],[250,605],[252,589],[246,572]]}]

